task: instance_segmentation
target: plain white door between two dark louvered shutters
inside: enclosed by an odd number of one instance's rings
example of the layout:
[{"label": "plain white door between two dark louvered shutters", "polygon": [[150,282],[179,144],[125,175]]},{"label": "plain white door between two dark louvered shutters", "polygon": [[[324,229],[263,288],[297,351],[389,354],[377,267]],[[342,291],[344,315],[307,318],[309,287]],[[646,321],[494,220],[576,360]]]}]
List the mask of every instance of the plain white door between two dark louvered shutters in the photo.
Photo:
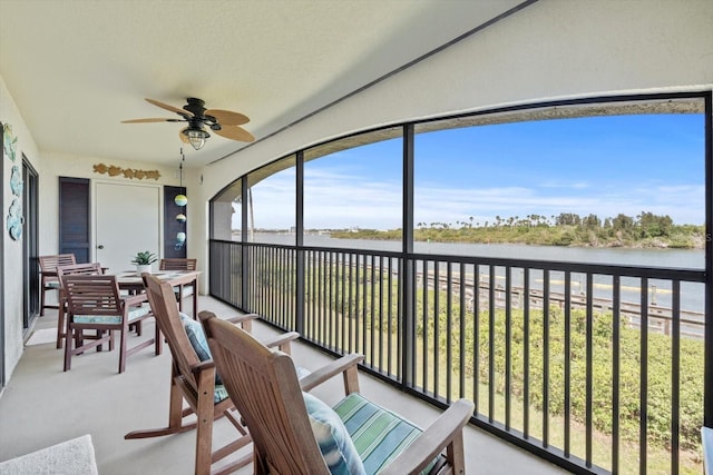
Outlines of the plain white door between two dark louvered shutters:
[{"label": "plain white door between two dark louvered shutters", "polygon": [[[97,181],[95,260],[109,273],[133,269],[131,258],[148,250],[160,256],[162,187]],[[154,264],[158,269],[158,264]]]}]

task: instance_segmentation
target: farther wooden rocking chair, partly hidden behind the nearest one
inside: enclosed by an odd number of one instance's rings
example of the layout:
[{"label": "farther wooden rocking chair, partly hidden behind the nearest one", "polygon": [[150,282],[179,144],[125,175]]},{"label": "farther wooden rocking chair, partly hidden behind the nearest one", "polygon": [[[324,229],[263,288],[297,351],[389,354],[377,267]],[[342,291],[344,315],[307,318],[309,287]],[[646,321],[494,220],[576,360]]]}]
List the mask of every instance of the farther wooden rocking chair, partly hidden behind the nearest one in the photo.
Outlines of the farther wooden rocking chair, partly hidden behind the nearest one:
[{"label": "farther wooden rocking chair, partly hidden behind the nearest one", "polygon": [[[143,278],[148,299],[156,316],[156,323],[165,336],[173,356],[168,426],[134,431],[126,434],[124,438],[158,437],[197,427],[196,474],[229,473],[250,464],[252,462],[252,454],[227,463],[224,462],[223,466],[216,466],[212,472],[214,464],[250,444],[250,435],[240,423],[237,416],[233,414],[234,405],[227,396],[225,388],[221,384],[216,385],[216,383],[219,383],[219,379],[216,382],[215,365],[213,360],[209,359],[209,354],[206,355],[204,353],[204,349],[207,349],[207,342],[205,342],[204,338],[203,344],[205,348],[198,348],[204,357],[204,360],[202,360],[194,346],[195,339],[194,343],[192,343],[186,333],[186,326],[195,325],[201,329],[202,335],[203,329],[201,324],[192,318],[180,316],[173,288],[169,284],[162,283],[150,274],[144,274]],[[252,329],[252,320],[256,317],[255,314],[241,315],[226,321],[229,321],[228,325],[241,325],[250,331]],[[290,352],[290,342],[296,337],[297,334],[295,333],[280,335],[268,342],[268,345]],[[206,357],[208,359],[205,359]],[[188,405],[186,408],[184,408],[183,405],[184,400]],[[188,416],[193,414],[195,414],[195,418],[188,418]],[[213,422],[222,416],[226,416],[241,435],[236,441],[213,451]]]}]

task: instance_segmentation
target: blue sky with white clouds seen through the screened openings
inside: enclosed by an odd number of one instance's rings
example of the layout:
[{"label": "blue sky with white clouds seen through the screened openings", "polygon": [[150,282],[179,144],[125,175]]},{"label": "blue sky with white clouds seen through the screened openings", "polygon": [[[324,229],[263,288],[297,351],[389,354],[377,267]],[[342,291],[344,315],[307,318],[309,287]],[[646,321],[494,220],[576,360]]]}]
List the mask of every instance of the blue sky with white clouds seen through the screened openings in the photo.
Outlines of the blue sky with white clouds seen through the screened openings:
[{"label": "blue sky with white clouds seen through the screened openings", "polygon": [[[590,117],[470,127],[416,139],[414,222],[641,211],[704,222],[702,115]],[[255,225],[292,226],[294,170],[254,189]],[[401,226],[401,141],[305,165],[305,227]]]}]

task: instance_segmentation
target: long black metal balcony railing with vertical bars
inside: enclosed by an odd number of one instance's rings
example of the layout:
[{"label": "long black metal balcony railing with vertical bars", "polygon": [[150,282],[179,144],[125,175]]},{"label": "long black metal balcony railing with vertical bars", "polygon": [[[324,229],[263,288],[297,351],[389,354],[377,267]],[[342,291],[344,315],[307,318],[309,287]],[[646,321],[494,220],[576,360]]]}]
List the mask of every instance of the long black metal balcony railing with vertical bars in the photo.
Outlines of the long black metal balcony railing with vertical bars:
[{"label": "long black metal balcony railing with vertical bars", "polygon": [[211,294],[579,473],[702,467],[705,273],[211,241]]}]

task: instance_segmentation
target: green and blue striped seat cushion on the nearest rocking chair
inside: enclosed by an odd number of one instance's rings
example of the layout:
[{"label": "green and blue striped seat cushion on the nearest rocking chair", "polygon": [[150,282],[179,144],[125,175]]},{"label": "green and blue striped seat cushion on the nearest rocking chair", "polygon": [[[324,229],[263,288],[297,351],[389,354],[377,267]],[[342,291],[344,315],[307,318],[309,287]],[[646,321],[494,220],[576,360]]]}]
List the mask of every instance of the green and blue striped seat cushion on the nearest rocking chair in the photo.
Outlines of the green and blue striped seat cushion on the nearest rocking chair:
[{"label": "green and blue striped seat cushion on the nearest rocking chair", "polygon": [[[344,422],[368,474],[375,474],[389,465],[422,432],[359,393],[346,396],[334,406],[334,410]],[[438,458],[421,473],[429,473],[437,462]]]}]

